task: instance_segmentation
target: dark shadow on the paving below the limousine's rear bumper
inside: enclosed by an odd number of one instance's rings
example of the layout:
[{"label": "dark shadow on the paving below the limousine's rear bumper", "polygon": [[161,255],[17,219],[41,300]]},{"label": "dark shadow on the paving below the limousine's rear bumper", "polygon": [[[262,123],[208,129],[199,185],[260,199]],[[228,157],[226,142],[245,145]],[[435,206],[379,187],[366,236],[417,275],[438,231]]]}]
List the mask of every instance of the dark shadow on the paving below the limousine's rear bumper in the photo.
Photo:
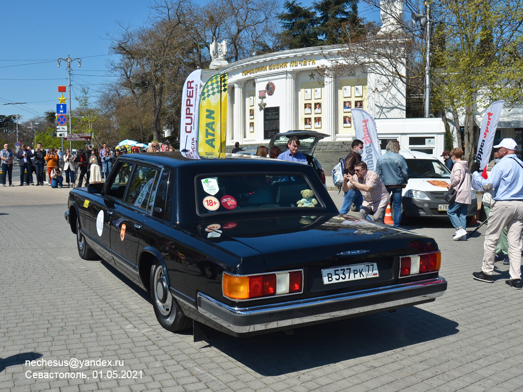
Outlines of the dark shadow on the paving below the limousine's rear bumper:
[{"label": "dark shadow on the paving below the limousine's rear bumper", "polygon": [[260,375],[278,376],[450,336],[457,327],[456,321],[409,307],[298,328],[290,336],[219,335],[208,343]]}]

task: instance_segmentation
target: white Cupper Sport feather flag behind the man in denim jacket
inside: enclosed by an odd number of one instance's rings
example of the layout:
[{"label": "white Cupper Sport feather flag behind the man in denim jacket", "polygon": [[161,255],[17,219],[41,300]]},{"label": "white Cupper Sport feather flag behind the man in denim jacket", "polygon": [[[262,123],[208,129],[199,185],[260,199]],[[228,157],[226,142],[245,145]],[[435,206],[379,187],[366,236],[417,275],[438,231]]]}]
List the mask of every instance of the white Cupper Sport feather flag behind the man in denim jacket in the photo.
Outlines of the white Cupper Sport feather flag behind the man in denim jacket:
[{"label": "white Cupper Sport feather flag behind the man in denim jacket", "polygon": [[363,142],[363,155],[361,160],[367,164],[369,170],[376,170],[376,162],[381,156],[378,130],[374,118],[363,109],[351,109],[353,113],[354,130],[356,139]]}]

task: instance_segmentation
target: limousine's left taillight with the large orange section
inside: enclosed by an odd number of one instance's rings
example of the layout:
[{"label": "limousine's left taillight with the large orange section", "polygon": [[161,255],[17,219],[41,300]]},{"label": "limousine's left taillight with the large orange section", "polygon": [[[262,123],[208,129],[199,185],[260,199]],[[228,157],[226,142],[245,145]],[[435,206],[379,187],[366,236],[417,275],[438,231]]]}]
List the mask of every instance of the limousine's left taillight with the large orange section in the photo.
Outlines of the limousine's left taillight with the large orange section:
[{"label": "limousine's left taillight with the large orange section", "polygon": [[231,299],[264,298],[302,291],[302,270],[245,276],[224,273],[222,279],[222,293]]}]

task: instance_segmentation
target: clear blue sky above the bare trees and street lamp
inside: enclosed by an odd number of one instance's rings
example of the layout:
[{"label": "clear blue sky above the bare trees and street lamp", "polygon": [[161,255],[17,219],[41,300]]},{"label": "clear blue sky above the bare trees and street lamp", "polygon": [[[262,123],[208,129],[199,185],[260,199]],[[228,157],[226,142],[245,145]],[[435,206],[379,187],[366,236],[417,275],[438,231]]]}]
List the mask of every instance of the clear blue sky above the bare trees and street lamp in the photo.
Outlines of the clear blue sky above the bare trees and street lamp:
[{"label": "clear blue sky above the bare trees and street lamp", "polygon": [[[66,62],[62,61],[60,68],[56,66],[59,57],[82,59],[81,67],[77,61],[71,63],[73,110],[82,85],[89,87],[93,96],[104,91],[104,84],[110,80],[108,34],[119,31],[118,23],[144,25],[150,4],[146,0],[3,1],[0,114],[20,114],[20,122],[24,122],[54,111],[61,96],[58,86],[68,84]],[[309,6],[312,0],[302,4]],[[379,13],[366,10],[362,3],[360,16],[379,20]],[[64,97],[68,94],[64,93]],[[16,102],[27,103],[4,105]],[[69,99],[65,102],[69,109]]]}]

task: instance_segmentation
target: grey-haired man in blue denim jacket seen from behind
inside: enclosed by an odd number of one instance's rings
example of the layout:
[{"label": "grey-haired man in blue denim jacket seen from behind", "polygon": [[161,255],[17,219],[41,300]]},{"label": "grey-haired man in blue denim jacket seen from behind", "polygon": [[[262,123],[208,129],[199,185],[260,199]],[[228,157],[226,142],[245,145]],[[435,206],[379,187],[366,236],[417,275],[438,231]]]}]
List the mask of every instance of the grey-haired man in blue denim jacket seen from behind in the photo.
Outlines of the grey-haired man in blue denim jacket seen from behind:
[{"label": "grey-haired man in blue denim jacket seen from behind", "polygon": [[400,142],[391,140],[385,147],[386,153],[378,158],[376,172],[389,193],[392,193],[394,227],[400,227],[401,194],[408,180],[407,161],[400,154]]}]

